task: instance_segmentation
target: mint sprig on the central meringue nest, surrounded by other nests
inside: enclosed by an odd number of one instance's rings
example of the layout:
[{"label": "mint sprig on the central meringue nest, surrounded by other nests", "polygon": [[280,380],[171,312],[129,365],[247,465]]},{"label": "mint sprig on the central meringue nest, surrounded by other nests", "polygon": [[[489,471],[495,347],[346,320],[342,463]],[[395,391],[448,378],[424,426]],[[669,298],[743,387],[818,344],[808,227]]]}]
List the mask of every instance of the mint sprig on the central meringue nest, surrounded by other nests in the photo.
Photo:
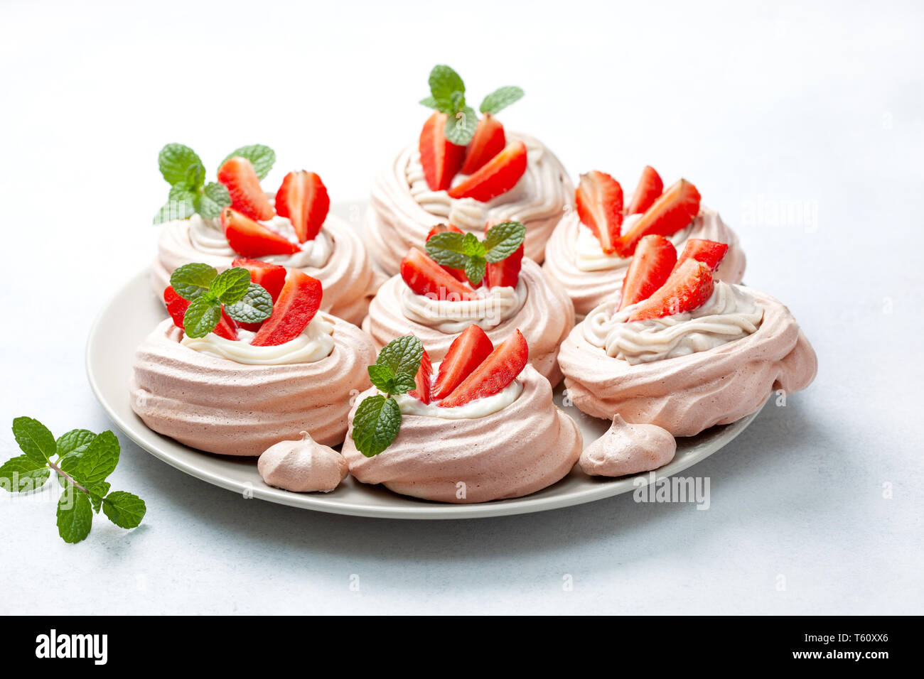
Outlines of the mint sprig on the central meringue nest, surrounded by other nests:
[{"label": "mint sprig on the central meringue nest, surrounded by other nests", "polygon": [[488,263],[503,261],[520,247],[526,238],[526,226],[519,222],[495,224],[483,241],[474,234],[445,231],[427,241],[427,254],[433,261],[452,269],[463,269],[473,285],[479,285]]}]

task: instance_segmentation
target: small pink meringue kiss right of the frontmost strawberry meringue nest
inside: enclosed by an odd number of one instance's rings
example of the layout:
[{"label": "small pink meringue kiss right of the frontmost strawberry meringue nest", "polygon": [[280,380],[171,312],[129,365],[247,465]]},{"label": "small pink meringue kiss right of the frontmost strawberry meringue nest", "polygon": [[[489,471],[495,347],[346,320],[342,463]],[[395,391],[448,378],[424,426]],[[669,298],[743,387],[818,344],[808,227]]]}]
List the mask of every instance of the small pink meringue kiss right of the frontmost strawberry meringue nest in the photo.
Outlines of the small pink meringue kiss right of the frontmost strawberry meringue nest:
[{"label": "small pink meringue kiss right of the frontmost strawberry meringue nest", "polygon": [[[621,477],[663,467],[674,459],[677,442],[654,424],[628,424],[616,415],[613,424],[580,455],[580,468],[592,477]],[[261,458],[262,459],[262,458]]]}]

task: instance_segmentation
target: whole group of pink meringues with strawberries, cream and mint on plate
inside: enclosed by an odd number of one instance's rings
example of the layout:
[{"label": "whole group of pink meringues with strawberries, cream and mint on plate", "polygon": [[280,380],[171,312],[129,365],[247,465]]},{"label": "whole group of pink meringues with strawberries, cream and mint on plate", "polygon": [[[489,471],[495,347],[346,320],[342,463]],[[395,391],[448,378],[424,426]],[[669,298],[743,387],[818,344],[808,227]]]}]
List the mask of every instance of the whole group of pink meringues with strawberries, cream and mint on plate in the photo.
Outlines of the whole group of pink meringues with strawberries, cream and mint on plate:
[{"label": "whole group of pink meringues with strawberries, cream and mint on plate", "polygon": [[[812,381],[796,320],[740,285],[744,252],[693,184],[665,188],[646,167],[631,196],[599,171],[575,189],[498,119],[518,88],[478,115],[451,68],[430,85],[434,112],[375,179],[362,235],[313,172],[264,192],[267,147],[230,153],[209,183],[195,152],[164,147],[152,284],[166,318],[129,387],[148,427],[259,455],[265,482],[289,491],[351,474],[477,503],[576,463],[604,477],[663,467],[675,437]],[[570,403],[612,421],[596,441],[554,405],[563,378]]]}]

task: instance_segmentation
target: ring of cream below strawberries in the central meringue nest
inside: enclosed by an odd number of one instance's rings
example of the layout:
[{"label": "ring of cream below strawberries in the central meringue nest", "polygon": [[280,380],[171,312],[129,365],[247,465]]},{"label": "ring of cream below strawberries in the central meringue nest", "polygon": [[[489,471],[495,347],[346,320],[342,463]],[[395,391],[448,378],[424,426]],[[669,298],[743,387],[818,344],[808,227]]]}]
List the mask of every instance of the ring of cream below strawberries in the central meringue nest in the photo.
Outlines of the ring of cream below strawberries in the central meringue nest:
[{"label": "ring of cream below strawberries in the central meringue nest", "polygon": [[437,299],[418,295],[406,285],[401,295],[401,313],[408,321],[446,334],[461,333],[472,323],[490,330],[523,308],[527,286],[521,277],[517,287],[481,286],[475,293],[477,299]]}]

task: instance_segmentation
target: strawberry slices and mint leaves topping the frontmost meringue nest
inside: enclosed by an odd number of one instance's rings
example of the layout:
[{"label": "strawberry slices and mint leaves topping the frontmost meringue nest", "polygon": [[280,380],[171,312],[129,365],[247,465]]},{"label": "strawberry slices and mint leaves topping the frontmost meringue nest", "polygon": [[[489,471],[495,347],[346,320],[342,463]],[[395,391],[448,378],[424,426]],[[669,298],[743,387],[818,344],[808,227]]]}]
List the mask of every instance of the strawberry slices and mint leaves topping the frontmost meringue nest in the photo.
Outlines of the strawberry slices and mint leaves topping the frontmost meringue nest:
[{"label": "strawberry slices and mint leaves topping the frontmost meringue nest", "polygon": [[529,347],[518,330],[494,347],[483,330],[470,325],[453,341],[434,381],[431,360],[419,338],[398,337],[369,367],[370,381],[380,393],[359,403],[353,442],[360,453],[372,457],[395,441],[402,417],[395,396],[407,394],[444,408],[465,406],[504,391],[528,362]]}]

